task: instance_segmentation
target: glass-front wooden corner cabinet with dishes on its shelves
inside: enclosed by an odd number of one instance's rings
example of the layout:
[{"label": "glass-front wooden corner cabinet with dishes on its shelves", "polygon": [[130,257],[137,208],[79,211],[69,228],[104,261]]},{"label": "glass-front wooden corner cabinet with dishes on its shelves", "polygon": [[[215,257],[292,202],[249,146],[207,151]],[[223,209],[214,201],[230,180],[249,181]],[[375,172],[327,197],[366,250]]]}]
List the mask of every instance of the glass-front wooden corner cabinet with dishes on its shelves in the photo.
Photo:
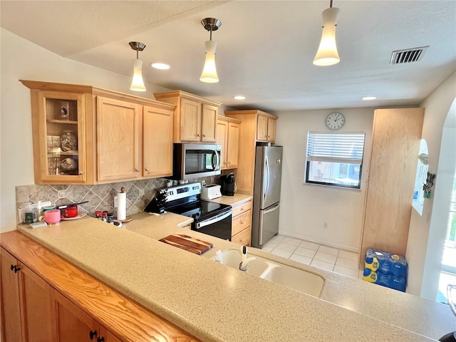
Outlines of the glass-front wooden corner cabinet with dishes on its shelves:
[{"label": "glass-front wooden corner cabinet with dishes on its shelves", "polygon": [[31,89],[35,184],[93,182],[88,172],[93,162],[86,158],[91,87],[21,82]]}]

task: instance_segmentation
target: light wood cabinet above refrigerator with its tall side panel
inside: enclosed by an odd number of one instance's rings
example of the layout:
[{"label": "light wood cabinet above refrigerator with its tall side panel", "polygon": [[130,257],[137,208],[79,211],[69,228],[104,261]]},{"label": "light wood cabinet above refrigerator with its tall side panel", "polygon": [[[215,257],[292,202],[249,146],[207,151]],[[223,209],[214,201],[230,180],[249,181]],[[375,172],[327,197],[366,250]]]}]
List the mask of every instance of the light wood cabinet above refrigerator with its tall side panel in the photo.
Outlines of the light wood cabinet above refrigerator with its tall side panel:
[{"label": "light wood cabinet above refrigerator with its tall side panel", "polygon": [[275,142],[277,117],[261,110],[230,110],[224,113],[229,118],[241,121],[236,175],[237,191],[253,195],[256,144]]}]

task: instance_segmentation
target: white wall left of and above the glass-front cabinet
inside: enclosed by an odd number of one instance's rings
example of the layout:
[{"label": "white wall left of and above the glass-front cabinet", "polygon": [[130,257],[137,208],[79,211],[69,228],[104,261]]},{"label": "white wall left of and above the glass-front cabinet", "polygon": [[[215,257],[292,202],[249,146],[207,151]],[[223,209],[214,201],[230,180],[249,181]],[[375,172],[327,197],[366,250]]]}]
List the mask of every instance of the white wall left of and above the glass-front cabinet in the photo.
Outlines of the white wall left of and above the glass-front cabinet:
[{"label": "white wall left of and above the glass-front cabinet", "polygon": [[0,72],[0,232],[16,229],[15,187],[34,183],[30,90],[19,79],[97,86],[145,98],[167,90],[148,83],[147,92],[132,92],[130,76],[63,58],[3,28]]}]

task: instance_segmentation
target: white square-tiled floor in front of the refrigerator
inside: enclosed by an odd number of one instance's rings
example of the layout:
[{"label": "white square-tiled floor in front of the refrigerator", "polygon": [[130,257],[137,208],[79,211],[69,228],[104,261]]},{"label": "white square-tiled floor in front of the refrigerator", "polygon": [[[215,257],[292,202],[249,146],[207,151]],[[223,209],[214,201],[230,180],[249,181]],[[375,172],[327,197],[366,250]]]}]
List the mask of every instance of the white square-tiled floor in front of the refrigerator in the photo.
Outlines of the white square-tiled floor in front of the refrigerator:
[{"label": "white square-tiled floor in front of the refrigerator", "polygon": [[358,254],[342,249],[276,235],[264,244],[261,251],[353,278],[362,277],[362,272],[358,270]]}]

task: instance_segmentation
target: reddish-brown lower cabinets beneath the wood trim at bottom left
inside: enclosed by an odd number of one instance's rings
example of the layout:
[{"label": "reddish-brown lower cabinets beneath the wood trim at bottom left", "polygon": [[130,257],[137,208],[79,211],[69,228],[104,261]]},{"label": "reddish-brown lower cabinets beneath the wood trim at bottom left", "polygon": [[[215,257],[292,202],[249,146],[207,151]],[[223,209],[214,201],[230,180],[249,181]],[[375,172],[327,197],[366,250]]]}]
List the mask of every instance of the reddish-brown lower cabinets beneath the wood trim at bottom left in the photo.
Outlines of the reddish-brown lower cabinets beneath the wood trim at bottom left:
[{"label": "reddish-brown lower cabinets beneath the wood trim at bottom left", "polygon": [[0,265],[1,341],[121,341],[3,248]]}]

